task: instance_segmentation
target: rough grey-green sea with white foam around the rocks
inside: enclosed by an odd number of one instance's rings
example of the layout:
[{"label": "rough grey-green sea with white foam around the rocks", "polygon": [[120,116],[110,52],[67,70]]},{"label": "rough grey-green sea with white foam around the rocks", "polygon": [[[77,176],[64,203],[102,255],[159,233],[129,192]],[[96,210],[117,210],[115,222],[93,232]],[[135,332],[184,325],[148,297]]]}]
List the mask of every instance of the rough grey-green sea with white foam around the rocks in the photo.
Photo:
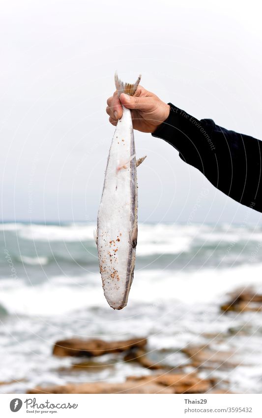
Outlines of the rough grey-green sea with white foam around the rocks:
[{"label": "rough grey-green sea with white foam around the rocks", "polygon": [[[262,292],[262,226],[140,223],[134,281],[121,311],[103,294],[94,228],[0,224],[0,393],[151,373],[116,358],[111,367],[72,370],[72,358],[52,355],[56,341],[71,337],[147,337],[149,354],[174,368],[189,364],[182,352],[189,345],[237,352],[236,367],[206,373],[233,392],[261,393],[262,313],[223,314],[220,306],[235,289]],[[219,343],[207,342],[217,334]]]}]

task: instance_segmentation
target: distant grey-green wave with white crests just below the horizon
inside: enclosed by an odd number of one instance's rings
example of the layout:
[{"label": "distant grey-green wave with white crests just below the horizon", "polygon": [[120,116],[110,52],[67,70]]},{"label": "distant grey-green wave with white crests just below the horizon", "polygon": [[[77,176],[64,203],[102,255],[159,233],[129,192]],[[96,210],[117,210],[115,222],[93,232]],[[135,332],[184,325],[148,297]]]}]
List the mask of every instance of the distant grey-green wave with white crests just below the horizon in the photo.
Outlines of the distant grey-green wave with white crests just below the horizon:
[{"label": "distant grey-green wave with white crests just below the horizon", "polygon": [[[93,240],[95,223],[66,225],[43,224],[2,224],[6,226],[5,242],[9,238],[8,252],[13,261],[25,265],[78,264],[97,265],[97,251]],[[14,234],[18,245],[14,246]],[[165,256],[167,264],[176,258],[173,268],[180,268],[182,262],[193,260],[194,265],[212,265],[225,262],[230,257],[236,262],[247,262],[255,254],[255,262],[262,259],[262,228],[255,231],[251,226],[202,225],[202,224],[143,224],[138,226],[137,261],[148,262],[158,256]],[[6,244],[7,245],[7,244]],[[20,254],[22,253],[26,254]],[[173,258],[172,258],[173,257]],[[163,257],[162,257],[163,258]],[[169,258],[169,260],[168,260]],[[177,258],[180,258],[178,262]],[[0,262],[6,264],[5,253]],[[163,266],[163,260],[161,266]]]}]

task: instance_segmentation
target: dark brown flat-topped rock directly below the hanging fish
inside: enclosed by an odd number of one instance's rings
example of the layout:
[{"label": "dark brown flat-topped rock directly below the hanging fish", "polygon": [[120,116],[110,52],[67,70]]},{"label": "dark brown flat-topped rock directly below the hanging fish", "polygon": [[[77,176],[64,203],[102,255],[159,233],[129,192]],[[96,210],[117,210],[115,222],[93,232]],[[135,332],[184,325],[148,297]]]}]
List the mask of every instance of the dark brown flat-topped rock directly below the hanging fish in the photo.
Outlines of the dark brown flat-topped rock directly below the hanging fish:
[{"label": "dark brown flat-topped rock directly below the hanging fish", "polygon": [[53,350],[53,354],[59,356],[73,355],[96,357],[102,354],[122,353],[131,348],[143,348],[146,346],[146,338],[133,338],[123,341],[103,341],[99,339],[81,340],[70,338],[58,341]]}]

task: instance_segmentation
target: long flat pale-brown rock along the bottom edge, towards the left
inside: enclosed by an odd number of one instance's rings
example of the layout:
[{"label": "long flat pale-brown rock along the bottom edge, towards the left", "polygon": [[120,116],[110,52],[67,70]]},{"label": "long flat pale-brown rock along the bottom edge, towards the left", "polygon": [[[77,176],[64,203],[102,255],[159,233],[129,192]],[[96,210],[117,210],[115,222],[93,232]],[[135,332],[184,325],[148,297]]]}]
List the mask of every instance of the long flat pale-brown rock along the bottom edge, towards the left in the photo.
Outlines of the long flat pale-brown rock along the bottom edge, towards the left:
[{"label": "long flat pale-brown rock along the bottom edge, towards the left", "polygon": [[174,393],[174,389],[156,383],[84,383],[81,385],[47,386],[29,389],[27,393]]}]

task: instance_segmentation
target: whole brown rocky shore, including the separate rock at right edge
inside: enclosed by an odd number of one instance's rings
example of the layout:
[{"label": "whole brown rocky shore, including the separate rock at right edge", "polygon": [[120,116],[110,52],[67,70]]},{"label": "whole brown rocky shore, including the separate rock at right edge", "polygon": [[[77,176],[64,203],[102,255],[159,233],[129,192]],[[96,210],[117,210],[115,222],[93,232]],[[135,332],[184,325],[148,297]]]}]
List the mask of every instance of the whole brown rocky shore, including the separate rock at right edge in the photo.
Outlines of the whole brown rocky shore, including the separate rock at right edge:
[{"label": "whole brown rocky shore, including the separate rock at right edge", "polygon": [[[221,307],[222,315],[239,315],[241,312],[260,312],[262,295],[252,289],[238,289],[228,295],[228,301]],[[124,381],[88,382],[74,384],[68,382],[57,386],[36,386],[27,393],[233,393],[229,382],[220,377],[220,372],[230,374],[243,358],[238,350],[225,349],[225,339],[229,336],[245,335],[244,329],[228,329],[227,333],[203,334],[206,343],[189,344],[180,349],[184,363],[169,364],[168,350],[157,353],[149,349],[146,337],[119,341],[103,339],[70,338],[58,341],[53,355],[72,358],[71,365],[63,370],[101,371],[114,368],[119,363],[137,364],[141,375],[127,376]],[[78,358],[79,360],[73,360]],[[216,371],[216,377],[213,375]],[[235,392],[234,392],[235,393]]]}]

